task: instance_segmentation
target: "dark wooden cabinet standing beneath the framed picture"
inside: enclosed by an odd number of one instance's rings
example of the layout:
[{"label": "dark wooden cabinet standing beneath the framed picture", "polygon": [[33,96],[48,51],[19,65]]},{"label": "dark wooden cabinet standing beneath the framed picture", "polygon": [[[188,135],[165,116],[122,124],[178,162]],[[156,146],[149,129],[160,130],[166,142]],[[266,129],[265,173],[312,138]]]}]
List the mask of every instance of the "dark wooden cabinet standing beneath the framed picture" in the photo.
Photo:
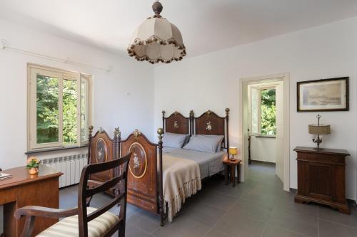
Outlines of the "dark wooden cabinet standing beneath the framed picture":
[{"label": "dark wooden cabinet standing beneath the framed picture", "polygon": [[345,158],[343,149],[296,147],[298,154],[298,193],[296,202],[316,202],[350,214],[346,201]]}]

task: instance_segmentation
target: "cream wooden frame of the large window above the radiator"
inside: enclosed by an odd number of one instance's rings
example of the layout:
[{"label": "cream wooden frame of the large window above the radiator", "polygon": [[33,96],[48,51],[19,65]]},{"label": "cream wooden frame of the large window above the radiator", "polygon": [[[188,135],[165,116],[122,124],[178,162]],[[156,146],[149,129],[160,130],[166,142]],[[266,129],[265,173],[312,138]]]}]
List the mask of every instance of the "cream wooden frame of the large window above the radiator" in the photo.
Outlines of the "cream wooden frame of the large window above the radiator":
[{"label": "cream wooden frame of the large window above the radiator", "polygon": [[[59,142],[50,142],[44,144],[37,143],[37,88],[36,80],[37,74],[44,74],[59,78]],[[83,76],[83,79],[82,79]],[[85,73],[79,73],[69,70],[61,70],[59,68],[51,68],[44,65],[37,65],[33,63],[27,64],[27,151],[41,151],[46,149],[56,149],[56,148],[71,148],[71,147],[82,147],[88,143],[88,137],[82,139],[81,137],[81,81],[87,81],[87,93],[86,93],[86,114],[87,114],[87,124],[91,123],[91,75]],[[64,144],[63,137],[63,82],[64,80],[76,80],[76,91],[77,91],[77,141],[76,144]],[[88,127],[88,126],[86,126]],[[87,129],[87,128],[86,128]]]}]

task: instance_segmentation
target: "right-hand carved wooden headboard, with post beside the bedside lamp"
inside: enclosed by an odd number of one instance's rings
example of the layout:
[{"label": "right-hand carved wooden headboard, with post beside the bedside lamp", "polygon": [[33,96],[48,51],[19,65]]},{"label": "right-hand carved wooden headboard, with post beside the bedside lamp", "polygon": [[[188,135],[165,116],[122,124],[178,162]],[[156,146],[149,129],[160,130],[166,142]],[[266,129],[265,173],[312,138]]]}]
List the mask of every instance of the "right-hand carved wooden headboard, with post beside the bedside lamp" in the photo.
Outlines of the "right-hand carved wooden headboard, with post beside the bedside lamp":
[{"label": "right-hand carved wooden headboard, with post beside the bedside lamp", "polygon": [[[193,116],[193,115],[192,115]],[[199,117],[193,117],[195,135],[223,135],[223,148],[229,147],[228,138],[229,109],[226,108],[226,117],[219,117],[215,112],[208,110]]]}]

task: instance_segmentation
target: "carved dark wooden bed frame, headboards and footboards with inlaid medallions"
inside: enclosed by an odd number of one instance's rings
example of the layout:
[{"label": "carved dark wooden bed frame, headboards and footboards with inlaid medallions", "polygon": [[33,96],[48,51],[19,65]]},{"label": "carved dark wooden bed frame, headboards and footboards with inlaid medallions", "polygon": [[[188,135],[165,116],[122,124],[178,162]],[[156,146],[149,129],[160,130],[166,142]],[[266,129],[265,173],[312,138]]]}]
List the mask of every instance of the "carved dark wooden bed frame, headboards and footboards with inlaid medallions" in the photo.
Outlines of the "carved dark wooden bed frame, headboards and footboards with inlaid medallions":
[{"label": "carved dark wooden bed frame, headboards and footboards with inlaid medallions", "polygon": [[[228,119],[229,109],[226,109],[226,117],[219,117],[216,113],[208,110],[199,117],[194,117],[193,110],[189,117],[184,117],[179,112],[172,113],[165,117],[165,111],[162,112],[163,128],[159,128],[159,142],[152,143],[139,130],[135,130],[127,139],[121,140],[119,129],[114,132],[114,139],[110,139],[106,132],[97,132],[91,137],[91,127],[89,132],[89,162],[98,162],[94,152],[97,152],[96,144],[99,139],[103,139],[106,147],[112,147],[109,156],[113,159],[119,159],[126,154],[131,154],[128,169],[128,192],[127,201],[129,204],[138,206],[141,209],[153,214],[160,215],[160,225],[164,226],[167,218],[168,207],[164,204],[163,191],[163,142],[164,132],[187,135],[223,135],[222,147],[229,147],[228,138]],[[157,157],[159,156],[159,164]],[[159,169],[159,170],[158,170]],[[120,174],[120,171],[112,171],[106,174],[98,174],[91,177],[95,180],[106,181],[113,175]],[[94,181],[95,184],[95,181]],[[118,195],[119,191],[114,191]],[[166,209],[166,210],[164,210]]]}]

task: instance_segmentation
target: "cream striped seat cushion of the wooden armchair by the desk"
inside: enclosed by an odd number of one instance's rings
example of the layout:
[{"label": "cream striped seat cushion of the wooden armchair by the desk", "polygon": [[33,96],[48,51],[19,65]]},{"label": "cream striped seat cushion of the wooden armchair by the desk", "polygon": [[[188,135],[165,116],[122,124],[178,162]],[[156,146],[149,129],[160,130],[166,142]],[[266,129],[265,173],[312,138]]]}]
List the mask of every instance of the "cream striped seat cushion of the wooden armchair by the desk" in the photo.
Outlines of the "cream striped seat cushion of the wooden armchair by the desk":
[{"label": "cream striped seat cushion of the wooden armchair by the desk", "polygon": [[[93,207],[87,208],[87,213],[90,214],[96,211]],[[101,216],[95,218],[88,223],[88,236],[102,236],[111,226],[119,221],[119,217],[107,211]],[[78,215],[69,216],[57,222],[53,226],[39,233],[40,237],[72,237],[79,236]]]}]

